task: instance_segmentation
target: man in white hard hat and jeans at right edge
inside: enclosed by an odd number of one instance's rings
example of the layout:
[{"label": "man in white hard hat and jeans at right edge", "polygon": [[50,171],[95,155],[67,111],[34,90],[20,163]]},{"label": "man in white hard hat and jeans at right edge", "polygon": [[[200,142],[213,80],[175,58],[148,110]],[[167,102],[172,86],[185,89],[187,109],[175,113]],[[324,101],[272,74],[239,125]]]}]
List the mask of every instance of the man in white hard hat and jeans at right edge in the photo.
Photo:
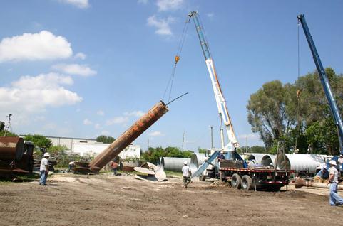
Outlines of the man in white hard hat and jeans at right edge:
[{"label": "man in white hard hat and jeans at right edge", "polygon": [[329,203],[330,205],[343,205],[343,198],[337,195],[337,185],[338,185],[338,171],[335,167],[337,165],[336,161],[329,161],[329,179],[327,180],[327,185],[330,184],[330,194]]}]

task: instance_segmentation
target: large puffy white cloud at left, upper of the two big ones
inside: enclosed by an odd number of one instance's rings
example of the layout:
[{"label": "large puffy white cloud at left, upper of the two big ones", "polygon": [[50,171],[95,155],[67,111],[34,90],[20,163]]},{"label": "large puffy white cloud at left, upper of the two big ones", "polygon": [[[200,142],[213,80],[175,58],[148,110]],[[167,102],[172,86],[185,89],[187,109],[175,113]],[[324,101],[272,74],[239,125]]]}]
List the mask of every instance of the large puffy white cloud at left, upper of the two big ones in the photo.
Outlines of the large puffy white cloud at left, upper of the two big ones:
[{"label": "large puffy white cloud at left, upper of the two big ones", "polygon": [[62,36],[50,31],[24,33],[21,36],[3,38],[0,43],[0,63],[20,60],[53,60],[69,58],[73,54],[71,44]]}]

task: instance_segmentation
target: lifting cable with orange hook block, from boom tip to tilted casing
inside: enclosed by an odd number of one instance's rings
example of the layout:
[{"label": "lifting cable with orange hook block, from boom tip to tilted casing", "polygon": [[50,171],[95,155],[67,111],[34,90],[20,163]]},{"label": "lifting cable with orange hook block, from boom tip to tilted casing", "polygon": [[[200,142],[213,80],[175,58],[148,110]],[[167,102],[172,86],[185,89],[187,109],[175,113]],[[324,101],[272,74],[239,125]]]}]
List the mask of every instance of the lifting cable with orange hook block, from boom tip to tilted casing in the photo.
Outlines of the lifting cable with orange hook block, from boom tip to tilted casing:
[{"label": "lifting cable with orange hook block, from boom tip to tilted casing", "polygon": [[190,22],[190,18],[188,18],[185,21],[185,26],[183,27],[183,33],[181,35],[180,43],[178,45],[178,51],[176,52],[176,55],[175,55],[175,63],[174,63],[174,66],[173,66],[173,70],[172,70],[170,78],[168,80],[167,87],[165,87],[165,91],[163,93],[162,99],[165,98],[165,95],[167,94],[167,91],[169,90],[168,101],[167,102],[170,102],[170,96],[171,96],[171,92],[173,90],[173,83],[174,83],[176,65],[178,65],[178,61],[180,60],[180,55],[181,55],[181,52],[183,50],[183,43],[185,43],[185,38],[187,36],[189,22]]}]

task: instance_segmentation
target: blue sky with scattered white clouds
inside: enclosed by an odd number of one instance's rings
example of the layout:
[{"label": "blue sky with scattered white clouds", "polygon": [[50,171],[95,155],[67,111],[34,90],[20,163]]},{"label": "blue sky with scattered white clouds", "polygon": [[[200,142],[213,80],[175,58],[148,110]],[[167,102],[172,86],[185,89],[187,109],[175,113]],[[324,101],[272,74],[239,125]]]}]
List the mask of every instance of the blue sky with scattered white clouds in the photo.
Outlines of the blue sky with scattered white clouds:
[{"label": "blue sky with scattered white clouds", "polygon": [[[324,67],[343,72],[343,1],[31,0],[0,8],[0,120],[17,134],[119,136],[163,96],[189,11],[198,10],[240,145],[261,145],[247,101],[263,83],[297,79],[297,14]],[[215,146],[219,122],[193,21],[170,104],[135,144]],[[300,30],[301,74],[315,68]]]}]

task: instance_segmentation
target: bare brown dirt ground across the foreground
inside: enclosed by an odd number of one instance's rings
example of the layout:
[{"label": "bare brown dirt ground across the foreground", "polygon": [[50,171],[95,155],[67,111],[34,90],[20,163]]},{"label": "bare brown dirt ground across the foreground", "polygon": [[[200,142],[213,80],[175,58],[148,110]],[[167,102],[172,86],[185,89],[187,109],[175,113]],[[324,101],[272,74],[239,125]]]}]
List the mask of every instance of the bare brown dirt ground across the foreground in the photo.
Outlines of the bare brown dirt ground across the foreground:
[{"label": "bare brown dirt ground across the foreground", "polygon": [[47,186],[3,183],[0,198],[0,225],[342,225],[343,212],[327,196],[301,190],[185,189],[180,178],[156,183],[108,174],[55,174]]}]

